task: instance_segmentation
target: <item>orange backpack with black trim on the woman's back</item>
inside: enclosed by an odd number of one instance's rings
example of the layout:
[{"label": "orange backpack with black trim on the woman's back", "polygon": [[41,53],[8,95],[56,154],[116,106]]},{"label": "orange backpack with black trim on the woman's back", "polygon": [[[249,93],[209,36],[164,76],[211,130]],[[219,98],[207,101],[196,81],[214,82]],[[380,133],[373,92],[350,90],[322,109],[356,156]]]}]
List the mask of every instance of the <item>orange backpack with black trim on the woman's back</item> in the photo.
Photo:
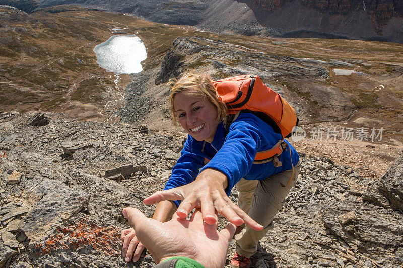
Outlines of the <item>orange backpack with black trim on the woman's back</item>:
[{"label": "orange backpack with black trim on the woman's back", "polygon": [[275,166],[281,166],[278,156],[286,148],[284,138],[292,135],[299,121],[294,108],[280,94],[268,88],[257,75],[229,77],[214,81],[213,85],[219,98],[227,104],[229,114],[235,115],[232,121],[240,112],[253,113],[283,136],[270,150],[258,152],[253,162],[273,160]]}]

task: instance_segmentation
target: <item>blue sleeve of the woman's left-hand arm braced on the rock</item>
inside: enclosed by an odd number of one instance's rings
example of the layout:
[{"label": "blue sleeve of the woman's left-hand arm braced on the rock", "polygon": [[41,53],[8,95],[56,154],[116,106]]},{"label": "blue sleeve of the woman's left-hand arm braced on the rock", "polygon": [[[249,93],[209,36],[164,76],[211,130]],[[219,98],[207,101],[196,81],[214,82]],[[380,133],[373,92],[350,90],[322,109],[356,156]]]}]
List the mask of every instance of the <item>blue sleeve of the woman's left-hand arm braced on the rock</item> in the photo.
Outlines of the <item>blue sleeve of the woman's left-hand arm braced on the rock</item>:
[{"label": "blue sleeve of the woman's left-hand arm braced on the rock", "polygon": [[[181,151],[181,156],[172,168],[172,174],[165,184],[164,190],[189,184],[197,177],[199,169],[204,165],[204,158],[191,152],[193,138],[188,136]],[[173,201],[179,206],[178,201]]]}]

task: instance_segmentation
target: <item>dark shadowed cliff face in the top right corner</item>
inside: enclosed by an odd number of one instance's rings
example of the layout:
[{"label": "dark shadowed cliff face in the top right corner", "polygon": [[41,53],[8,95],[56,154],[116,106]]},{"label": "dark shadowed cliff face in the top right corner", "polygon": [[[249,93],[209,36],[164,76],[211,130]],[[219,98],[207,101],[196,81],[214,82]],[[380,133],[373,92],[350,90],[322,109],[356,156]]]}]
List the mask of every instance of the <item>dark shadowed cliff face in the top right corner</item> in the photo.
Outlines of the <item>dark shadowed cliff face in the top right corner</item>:
[{"label": "dark shadowed cliff face in the top right corner", "polygon": [[393,0],[246,0],[256,20],[284,37],[403,42],[403,3]]}]

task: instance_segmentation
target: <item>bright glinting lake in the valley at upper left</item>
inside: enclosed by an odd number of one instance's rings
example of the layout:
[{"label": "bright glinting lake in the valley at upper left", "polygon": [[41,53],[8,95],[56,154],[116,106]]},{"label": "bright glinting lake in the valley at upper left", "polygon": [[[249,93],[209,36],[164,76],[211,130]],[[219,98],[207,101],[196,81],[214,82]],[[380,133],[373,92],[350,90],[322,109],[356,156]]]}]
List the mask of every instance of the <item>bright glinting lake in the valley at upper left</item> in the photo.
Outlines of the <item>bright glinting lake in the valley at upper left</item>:
[{"label": "bright glinting lake in the valley at upper left", "polygon": [[146,47],[135,35],[114,35],[95,46],[98,65],[115,74],[139,73],[141,62],[147,58]]}]

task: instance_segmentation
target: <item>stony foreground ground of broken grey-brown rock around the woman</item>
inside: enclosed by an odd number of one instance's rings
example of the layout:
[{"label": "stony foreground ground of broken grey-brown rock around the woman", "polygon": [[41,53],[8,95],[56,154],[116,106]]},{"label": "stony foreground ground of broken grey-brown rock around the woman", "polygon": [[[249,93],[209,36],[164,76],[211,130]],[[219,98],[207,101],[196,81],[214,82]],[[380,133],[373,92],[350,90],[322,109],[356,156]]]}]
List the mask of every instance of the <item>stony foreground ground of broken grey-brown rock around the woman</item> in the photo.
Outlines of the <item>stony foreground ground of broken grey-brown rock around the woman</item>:
[{"label": "stony foreground ground of broken grey-brown rock around the woman", "polygon": [[[33,123],[38,118],[43,124]],[[154,207],[142,199],[163,187],[184,136],[35,111],[2,112],[0,132],[0,266],[153,265],[148,252],[139,263],[125,264],[121,258],[118,237],[127,226],[121,210],[138,207],[151,216]],[[253,265],[402,263],[403,155],[380,178],[365,167],[300,155],[301,175]],[[367,191],[356,191],[357,183]],[[231,199],[236,198],[234,190]],[[232,241],[230,256],[233,251]]]}]

